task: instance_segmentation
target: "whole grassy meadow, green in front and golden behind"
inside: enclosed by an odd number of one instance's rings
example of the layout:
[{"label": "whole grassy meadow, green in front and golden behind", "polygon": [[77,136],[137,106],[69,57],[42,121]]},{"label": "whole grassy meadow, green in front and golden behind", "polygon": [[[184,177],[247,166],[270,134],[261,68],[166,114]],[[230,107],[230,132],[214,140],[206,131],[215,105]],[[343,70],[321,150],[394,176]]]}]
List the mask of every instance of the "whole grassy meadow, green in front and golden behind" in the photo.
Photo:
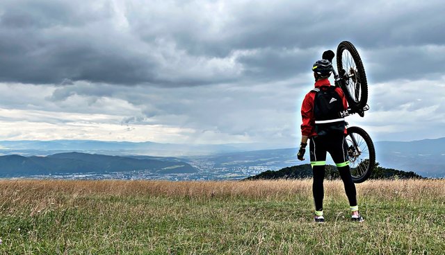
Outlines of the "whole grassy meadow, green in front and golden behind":
[{"label": "whole grassy meadow, green in front and golden behind", "polygon": [[0,254],[444,254],[445,180],[0,181]]}]

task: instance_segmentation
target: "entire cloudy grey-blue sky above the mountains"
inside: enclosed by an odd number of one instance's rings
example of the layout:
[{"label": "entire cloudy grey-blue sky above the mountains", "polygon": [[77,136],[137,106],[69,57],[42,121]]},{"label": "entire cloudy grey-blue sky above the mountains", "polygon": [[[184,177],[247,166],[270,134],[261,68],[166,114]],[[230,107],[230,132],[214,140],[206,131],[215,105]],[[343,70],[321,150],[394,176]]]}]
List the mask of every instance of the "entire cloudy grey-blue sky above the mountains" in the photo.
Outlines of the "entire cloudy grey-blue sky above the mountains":
[{"label": "entire cloudy grey-blue sky above the mountains", "polygon": [[312,64],[343,40],[369,83],[350,125],[374,141],[445,137],[443,13],[439,0],[2,0],[0,140],[296,147]]}]

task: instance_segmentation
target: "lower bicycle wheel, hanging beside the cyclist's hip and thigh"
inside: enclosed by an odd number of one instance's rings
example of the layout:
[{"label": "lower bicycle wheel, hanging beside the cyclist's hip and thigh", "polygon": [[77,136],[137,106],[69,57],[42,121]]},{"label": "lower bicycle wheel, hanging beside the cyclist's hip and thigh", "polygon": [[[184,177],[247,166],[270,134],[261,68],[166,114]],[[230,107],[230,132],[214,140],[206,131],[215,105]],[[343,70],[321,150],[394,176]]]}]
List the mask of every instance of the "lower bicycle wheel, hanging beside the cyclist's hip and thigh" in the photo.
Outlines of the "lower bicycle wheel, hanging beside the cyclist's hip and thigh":
[{"label": "lower bicycle wheel, hanging beside the cyclist's hip and thigh", "polygon": [[350,127],[345,137],[348,145],[350,174],[353,182],[366,181],[375,166],[375,149],[369,134],[362,128]]}]

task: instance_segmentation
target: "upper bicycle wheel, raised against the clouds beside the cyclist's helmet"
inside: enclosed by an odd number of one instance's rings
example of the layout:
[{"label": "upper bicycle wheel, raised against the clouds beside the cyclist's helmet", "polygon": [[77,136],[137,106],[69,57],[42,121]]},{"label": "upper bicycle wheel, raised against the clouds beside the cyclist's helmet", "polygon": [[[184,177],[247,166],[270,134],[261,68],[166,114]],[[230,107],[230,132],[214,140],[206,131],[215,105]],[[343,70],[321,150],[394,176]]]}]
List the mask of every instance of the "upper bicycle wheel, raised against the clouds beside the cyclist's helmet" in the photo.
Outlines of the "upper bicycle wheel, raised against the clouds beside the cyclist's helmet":
[{"label": "upper bicycle wheel, raised against the clouds beside the cyclist's helmet", "polygon": [[[355,46],[343,41],[337,47],[337,69],[344,73],[343,92],[352,108],[362,109],[368,101],[368,82],[360,55]],[[344,70],[344,71],[343,71]]]}]

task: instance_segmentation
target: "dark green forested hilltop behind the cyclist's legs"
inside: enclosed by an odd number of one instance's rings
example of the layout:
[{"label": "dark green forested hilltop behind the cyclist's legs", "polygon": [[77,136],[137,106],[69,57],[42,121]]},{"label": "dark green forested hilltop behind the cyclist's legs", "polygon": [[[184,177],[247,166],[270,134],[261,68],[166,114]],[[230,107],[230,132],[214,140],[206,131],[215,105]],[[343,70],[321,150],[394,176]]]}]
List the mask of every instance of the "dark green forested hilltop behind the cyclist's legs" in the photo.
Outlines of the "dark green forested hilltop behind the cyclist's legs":
[{"label": "dark green forested hilltop behind the cyclist's legs", "polygon": [[[422,179],[421,175],[417,175],[414,172],[405,172],[392,168],[382,168],[379,164],[371,173],[369,179]],[[282,168],[281,170],[266,172],[254,175],[247,179],[304,179],[312,177],[312,168],[310,164],[303,164],[298,166],[291,166]],[[335,166],[325,166],[325,179],[337,179],[339,178],[339,171]]]}]

